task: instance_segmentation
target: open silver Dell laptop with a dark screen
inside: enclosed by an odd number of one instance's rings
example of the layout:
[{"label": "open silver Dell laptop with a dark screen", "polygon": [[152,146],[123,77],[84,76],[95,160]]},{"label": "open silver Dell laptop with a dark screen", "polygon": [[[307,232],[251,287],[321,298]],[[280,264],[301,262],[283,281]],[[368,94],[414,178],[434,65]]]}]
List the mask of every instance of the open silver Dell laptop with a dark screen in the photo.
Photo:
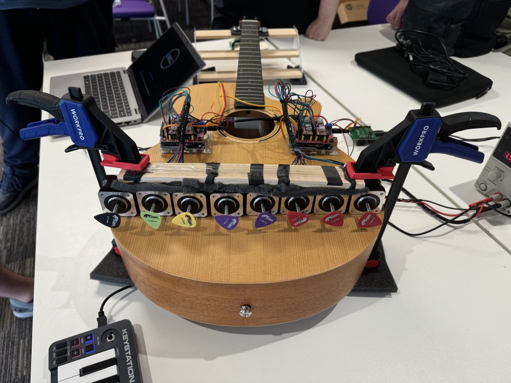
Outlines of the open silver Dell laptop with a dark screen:
[{"label": "open silver Dell laptop with a dark screen", "polygon": [[50,93],[62,97],[68,86],[92,95],[119,126],[146,122],[159,111],[162,94],[186,85],[205,66],[177,23],[128,68],[105,68],[50,78]]}]

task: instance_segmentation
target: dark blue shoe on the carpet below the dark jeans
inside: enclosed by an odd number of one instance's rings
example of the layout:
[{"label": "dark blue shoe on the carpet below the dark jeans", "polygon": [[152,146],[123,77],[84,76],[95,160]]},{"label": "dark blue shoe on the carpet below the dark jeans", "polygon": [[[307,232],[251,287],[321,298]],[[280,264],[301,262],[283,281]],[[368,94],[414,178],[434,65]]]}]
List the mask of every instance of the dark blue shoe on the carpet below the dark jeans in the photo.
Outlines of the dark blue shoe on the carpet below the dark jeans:
[{"label": "dark blue shoe on the carpet below the dark jeans", "polygon": [[0,214],[14,209],[25,195],[37,185],[37,173],[31,176],[16,176],[12,170],[4,167],[0,181]]}]

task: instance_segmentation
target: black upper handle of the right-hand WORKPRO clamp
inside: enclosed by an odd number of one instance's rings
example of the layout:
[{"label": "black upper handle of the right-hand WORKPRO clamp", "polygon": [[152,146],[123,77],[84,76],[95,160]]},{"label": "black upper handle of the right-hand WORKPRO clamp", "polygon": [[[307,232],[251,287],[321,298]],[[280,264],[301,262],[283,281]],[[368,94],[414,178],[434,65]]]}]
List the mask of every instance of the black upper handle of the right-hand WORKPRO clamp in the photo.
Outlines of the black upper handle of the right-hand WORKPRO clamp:
[{"label": "black upper handle of the right-hand WORKPRO clamp", "polygon": [[502,123],[493,114],[483,112],[462,112],[450,114],[443,117],[444,124],[438,132],[437,137],[444,139],[450,135],[467,129],[478,128],[497,128],[500,129]]}]

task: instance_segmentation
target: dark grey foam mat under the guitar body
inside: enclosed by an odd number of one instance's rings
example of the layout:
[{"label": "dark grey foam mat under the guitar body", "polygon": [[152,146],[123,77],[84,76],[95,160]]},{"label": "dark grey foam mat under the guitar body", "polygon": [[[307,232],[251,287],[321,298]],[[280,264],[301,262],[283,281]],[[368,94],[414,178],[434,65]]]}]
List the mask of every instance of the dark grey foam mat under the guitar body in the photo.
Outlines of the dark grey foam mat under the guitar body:
[{"label": "dark grey foam mat under the guitar body", "polygon": [[[352,293],[396,293],[398,286],[388,268],[383,247],[380,244],[380,265],[374,269],[364,269],[360,279],[355,284]],[[90,279],[120,285],[133,284],[123,259],[114,253],[113,247],[90,272]]]}]

